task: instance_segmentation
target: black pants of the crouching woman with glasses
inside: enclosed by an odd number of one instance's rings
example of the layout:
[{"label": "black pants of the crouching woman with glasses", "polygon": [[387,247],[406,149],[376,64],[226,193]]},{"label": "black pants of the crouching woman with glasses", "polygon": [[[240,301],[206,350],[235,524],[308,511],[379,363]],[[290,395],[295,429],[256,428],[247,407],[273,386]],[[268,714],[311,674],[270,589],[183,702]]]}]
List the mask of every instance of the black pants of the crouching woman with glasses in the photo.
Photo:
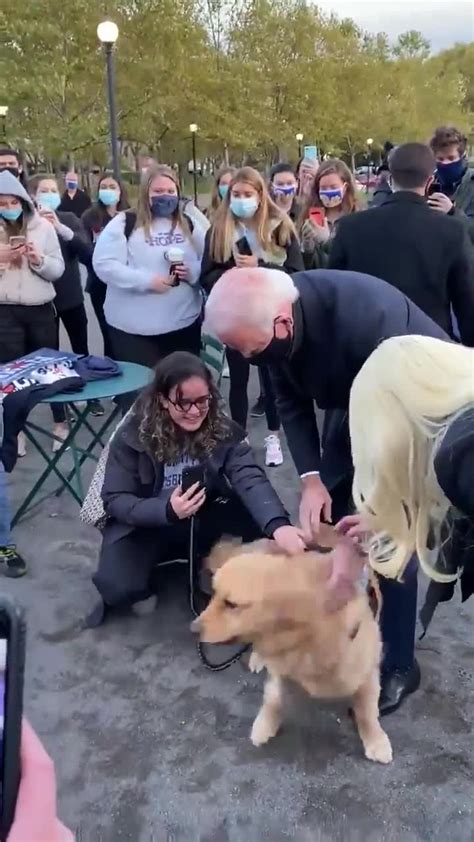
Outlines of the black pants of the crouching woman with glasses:
[{"label": "black pants of the crouching woman with glasses", "polygon": [[[235,497],[207,503],[196,517],[195,559],[205,558],[222,535],[243,541],[262,537],[261,530]],[[134,529],[114,540],[114,523],[104,529],[94,585],[109,606],[129,605],[151,594],[151,575],[157,564],[189,558],[190,521],[156,529]]]}]

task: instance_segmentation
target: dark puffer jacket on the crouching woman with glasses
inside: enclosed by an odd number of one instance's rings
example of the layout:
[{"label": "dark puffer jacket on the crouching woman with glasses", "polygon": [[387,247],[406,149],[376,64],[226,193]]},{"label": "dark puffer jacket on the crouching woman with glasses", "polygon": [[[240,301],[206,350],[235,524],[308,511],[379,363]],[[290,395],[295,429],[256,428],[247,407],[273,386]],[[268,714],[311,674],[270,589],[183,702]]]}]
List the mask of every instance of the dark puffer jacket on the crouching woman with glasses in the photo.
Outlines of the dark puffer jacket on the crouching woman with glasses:
[{"label": "dark puffer jacket on the crouching woman with glasses", "polygon": [[[174,522],[168,501],[173,489],[161,494],[164,466],[146,451],[138,435],[139,419],[130,420],[114,436],[105,469],[102,500],[109,517],[108,540],[133,529],[159,528]],[[235,494],[268,537],[290,523],[265,471],[255,461],[244,432],[232,425],[228,441],[205,460],[208,497]]]}]

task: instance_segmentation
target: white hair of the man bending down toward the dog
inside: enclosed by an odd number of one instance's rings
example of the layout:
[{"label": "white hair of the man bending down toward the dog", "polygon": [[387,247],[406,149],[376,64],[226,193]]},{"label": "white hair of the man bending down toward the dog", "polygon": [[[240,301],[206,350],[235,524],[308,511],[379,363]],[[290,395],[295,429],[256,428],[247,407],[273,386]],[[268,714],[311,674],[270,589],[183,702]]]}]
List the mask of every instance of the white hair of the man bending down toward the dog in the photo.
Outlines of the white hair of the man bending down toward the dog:
[{"label": "white hair of the man bending down toward the dog", "polygon": [[229,269],[207,300],[204,330],[217,337],[241,325],[268,331],[280,308],[297,298],[290,275],[280,269]]}]

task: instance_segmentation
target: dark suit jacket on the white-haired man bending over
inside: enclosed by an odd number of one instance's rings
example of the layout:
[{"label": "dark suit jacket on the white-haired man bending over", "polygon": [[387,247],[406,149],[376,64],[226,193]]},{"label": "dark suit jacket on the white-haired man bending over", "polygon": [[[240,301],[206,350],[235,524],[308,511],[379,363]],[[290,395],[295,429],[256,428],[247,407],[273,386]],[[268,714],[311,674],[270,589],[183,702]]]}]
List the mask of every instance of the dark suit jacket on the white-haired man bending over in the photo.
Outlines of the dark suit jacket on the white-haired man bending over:
[{"label": "dark suit jacket on the white-haired man bending over", "polygon": [[[368,213],[368,211],[367,211]],[[352,470],[345,415],[355,376],[390,336],[449,337],[399,290],[358,272],[317,269],[293,276],[299,291],[288,361],[272,366],[277,406],[299,474],[320,471],[328,489]],[[314,413],[333,414],[323,438]]]}]

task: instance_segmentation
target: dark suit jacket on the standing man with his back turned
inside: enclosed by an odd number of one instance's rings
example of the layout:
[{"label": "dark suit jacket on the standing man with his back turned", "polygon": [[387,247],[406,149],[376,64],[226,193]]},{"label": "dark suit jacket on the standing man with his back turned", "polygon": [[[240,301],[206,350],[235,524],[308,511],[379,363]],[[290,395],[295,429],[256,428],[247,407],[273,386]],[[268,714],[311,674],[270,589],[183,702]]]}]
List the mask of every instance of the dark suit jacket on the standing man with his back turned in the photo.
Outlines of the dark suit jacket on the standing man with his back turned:
[{"label": "dark suit jacket on the standing man with his back turned", "polygon": [[474,345],[474,249],[459,220],[421,196],[393,193],[380,207],[341,219],[329,268],[382,278],[450,336],[452,306],[461,341]]}]

